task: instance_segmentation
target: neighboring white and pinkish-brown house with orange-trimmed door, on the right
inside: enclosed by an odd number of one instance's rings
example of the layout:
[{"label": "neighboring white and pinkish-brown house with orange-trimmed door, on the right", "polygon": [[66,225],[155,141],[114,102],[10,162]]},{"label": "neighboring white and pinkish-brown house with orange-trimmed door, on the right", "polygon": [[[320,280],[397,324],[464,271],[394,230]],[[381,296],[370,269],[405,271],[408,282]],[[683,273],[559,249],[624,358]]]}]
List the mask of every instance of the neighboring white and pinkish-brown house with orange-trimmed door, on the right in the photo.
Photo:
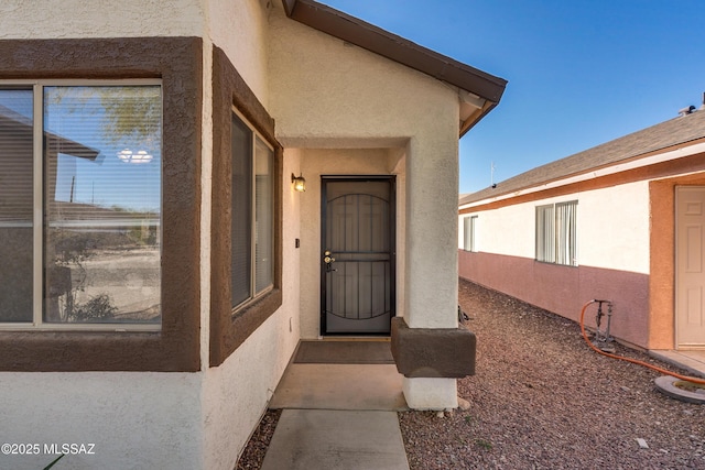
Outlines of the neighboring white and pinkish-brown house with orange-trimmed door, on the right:
[{"label": "neighboring white and pinkish-brown house with orange-trimmed door, on the right", "polygon": [[705,348],[703,109],[463,197],[460,276],[574,320],[609,299],[618,339]]}]

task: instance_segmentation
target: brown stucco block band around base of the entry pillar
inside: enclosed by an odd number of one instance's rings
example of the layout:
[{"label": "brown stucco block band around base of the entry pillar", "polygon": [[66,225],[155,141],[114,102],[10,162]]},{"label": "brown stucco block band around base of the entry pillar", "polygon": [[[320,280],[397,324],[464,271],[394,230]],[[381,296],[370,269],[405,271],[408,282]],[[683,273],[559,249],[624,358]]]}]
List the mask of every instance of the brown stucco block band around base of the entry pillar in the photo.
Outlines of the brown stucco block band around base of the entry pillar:
[{"label": "brown stucco block band around base of the entry pillar", "polygon": [[465,328],[409,328],[392,318],[391,349],[406,378],[459,379],[475,374],[475,334]]}]

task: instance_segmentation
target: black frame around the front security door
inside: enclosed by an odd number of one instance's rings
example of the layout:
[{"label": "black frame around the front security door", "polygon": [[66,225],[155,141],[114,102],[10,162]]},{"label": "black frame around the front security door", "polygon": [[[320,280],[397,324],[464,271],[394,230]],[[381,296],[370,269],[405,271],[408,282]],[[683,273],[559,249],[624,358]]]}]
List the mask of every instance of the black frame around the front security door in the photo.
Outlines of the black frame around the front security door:
[{"label": "black frame around the front security door", "polygon": [[[391,318],[397,316],[397,176],[395,175],[321,175],[321,250],[318,252],[318,262],[321,264],[319,269],[319,278],[321,278],[321,305],[319,305],[319,317],[321,317],[321,336],[349,336],[349,337],[361,337],[361,336],[381,336],[389,337],[390,334],[387,332],[327,332],[326,328],[326,265],[323,262],[324,251],[327,249],[326,247],[326,227],[327,227],[327,197],[326,197],[326,185],[327,183],[337,183],[337,182],[388,182],[390,186],[390,223],[389,223],[389,240],[390,240],[390,321]],[[391,325],[390,325],[391,328]],[[391,331],[391,329],[390,329]]]}]

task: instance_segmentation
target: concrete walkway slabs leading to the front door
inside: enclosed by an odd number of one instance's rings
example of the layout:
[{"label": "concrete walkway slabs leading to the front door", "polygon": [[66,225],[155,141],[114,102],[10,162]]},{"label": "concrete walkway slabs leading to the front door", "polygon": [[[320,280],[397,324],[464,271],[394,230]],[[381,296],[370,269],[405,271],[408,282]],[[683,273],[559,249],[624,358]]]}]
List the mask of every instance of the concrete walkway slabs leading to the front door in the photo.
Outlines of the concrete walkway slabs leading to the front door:
[{"label": "concrete walkway slabs leading to the front door", "polygon": [[291,363],[270,407],[283,411],[263,470],[409,470],[394,365]]}]

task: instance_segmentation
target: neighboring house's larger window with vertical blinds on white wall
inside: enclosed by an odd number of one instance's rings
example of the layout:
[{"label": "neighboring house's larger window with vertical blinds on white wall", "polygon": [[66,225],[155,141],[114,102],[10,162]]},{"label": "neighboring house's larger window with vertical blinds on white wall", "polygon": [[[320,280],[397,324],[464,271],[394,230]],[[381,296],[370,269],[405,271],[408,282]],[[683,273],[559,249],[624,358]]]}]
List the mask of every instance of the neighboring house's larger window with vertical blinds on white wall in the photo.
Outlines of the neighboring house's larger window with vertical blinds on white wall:
[{"label": "neighboring house's larger window with vertical blinds on white wall", "polygon": [[536,207],[536,261],[577,266],[577,201]]}]

